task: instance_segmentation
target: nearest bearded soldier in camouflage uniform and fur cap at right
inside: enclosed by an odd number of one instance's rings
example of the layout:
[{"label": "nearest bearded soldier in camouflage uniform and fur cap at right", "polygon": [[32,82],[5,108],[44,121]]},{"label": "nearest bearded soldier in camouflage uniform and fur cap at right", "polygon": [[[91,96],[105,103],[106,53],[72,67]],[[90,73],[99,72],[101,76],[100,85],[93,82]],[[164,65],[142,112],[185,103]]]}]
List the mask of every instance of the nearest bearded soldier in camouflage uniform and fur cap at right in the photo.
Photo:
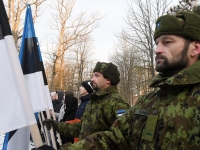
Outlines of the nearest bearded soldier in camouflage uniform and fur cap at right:
[{"label": "nearest bearded soldier in camouflage uniform and fur cap at right", "polygon": [[200,17],[193,13],[157,19],[155,90],[117,119],[65,150],[199,150]]}]

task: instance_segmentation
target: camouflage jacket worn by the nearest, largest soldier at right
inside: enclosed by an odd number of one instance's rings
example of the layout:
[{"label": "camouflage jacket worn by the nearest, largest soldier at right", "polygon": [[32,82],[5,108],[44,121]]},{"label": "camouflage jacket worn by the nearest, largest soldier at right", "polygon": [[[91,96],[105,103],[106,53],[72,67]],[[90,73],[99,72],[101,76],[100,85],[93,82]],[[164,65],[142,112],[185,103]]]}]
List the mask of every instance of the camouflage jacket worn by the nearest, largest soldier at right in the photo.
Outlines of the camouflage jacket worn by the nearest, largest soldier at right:
[{"label": "camouflage jacket worn by the nearest, largest soldier at right", "polygon": [[172,77],[158,74],[156,90],[98,132],[65,150],[200,149],[200,61]]}]

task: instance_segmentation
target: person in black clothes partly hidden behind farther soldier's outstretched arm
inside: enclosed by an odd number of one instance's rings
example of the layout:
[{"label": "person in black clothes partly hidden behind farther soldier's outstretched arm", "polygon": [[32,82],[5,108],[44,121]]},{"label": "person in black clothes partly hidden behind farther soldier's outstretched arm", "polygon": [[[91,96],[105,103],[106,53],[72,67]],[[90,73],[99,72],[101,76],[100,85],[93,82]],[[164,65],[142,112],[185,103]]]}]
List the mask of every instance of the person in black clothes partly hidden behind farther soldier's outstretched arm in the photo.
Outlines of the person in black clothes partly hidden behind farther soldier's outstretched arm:
[{"label": "person in black clothes partly hidden behind farther soldier's outstretched arm", "polygon": [[[76,116],[76,110],[78,108],[78,99],[74,97],[73,92],[66,91],[65,92],[65,101],[64,101],[64,116],[60,120],[60,122],[66,122],[75,119]],[[63,135],[61,136],[62,144],[68,143],[68,142],[74,142],[74,138],[65,137]]]}]

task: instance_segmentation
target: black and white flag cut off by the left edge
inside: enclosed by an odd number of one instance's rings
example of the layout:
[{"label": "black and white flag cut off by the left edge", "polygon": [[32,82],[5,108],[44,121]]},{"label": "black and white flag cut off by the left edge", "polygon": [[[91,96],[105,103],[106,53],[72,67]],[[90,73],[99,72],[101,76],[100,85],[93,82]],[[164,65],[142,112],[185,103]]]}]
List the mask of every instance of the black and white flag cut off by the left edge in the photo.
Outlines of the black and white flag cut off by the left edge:
[{"label": "black and white flag cut off by the left edge", "polygon": [[36,124],[2,0],[0,0],[0,69],[0,134]]}]

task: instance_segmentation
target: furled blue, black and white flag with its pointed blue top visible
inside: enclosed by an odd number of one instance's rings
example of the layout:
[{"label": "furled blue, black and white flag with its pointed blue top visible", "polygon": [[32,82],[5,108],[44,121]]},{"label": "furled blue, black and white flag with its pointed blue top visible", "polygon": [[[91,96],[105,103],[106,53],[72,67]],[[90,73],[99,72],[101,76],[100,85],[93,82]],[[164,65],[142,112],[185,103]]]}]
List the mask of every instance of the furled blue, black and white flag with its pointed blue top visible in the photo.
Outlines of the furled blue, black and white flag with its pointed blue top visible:
[{"label": "furled blue, black and white flag with its pointed blue top visible", "polygon": [[[31,7],[28,4],[19,59],[34,112],[53,108],[43,61],[35,36]],[[48,96],[48,97],[47,97]],[[49,106],[50,104],[50,106]]]}]

